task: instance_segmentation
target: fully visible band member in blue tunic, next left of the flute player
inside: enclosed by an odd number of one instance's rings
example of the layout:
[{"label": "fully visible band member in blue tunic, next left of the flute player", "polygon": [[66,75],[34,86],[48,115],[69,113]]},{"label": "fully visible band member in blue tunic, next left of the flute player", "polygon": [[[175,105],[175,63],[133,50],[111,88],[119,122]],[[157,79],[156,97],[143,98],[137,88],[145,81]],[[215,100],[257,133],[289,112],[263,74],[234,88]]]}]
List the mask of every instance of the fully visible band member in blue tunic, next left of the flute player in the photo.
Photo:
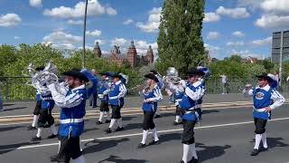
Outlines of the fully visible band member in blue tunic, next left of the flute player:
[{"label": "fully visible band member in blue tunic, next left of the flute player", "polygon": [[125,96],[126,96],[126,85],[121,82],[122,76],[118,73],[113,76],[113,84],[111,88],[107,91],[108,93],[108,104],[111,107],[112,115],[108,129],[106,129],[107,133],[111,133],[115,124],[117,124],[116,131],[123,130],[123,123],[120,114],[121,108],[125,104]]}]

